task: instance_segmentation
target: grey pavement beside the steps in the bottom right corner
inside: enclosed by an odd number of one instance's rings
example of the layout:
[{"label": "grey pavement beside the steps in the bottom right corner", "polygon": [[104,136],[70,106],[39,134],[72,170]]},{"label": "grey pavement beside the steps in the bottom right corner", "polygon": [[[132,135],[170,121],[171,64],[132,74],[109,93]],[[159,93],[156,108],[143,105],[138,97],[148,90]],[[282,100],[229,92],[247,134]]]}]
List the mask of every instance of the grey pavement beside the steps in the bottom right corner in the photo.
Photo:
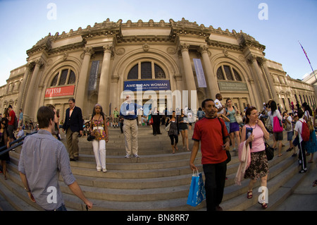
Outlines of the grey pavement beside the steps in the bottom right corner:
[{"label": "grey pavement beside the steps in the bottom right corner", "polygon": [[301,174],[306,176],[294,193],[273,211],[317,211],[317,186],[313,187],[313,181],[317,180],[316,162],[317,157],[314,157],[314,162],[310,165],[311,169],[306,172],[307,174]]}]

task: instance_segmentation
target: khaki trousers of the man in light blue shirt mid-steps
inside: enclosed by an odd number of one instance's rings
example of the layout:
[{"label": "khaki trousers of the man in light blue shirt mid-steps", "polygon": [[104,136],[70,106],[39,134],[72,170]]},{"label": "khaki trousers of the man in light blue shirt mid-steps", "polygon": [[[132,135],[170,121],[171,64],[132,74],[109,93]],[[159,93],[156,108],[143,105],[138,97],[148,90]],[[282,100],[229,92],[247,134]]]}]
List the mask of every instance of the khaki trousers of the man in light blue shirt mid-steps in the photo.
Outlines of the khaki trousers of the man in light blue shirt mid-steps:
[{"label": "khaki trousers of the man in light blue shirt mid-steps", "polygon": [[125,152],[127,154],[137,154],[137,120],[125,119],[123,122],[123,133],[125,134]]}]

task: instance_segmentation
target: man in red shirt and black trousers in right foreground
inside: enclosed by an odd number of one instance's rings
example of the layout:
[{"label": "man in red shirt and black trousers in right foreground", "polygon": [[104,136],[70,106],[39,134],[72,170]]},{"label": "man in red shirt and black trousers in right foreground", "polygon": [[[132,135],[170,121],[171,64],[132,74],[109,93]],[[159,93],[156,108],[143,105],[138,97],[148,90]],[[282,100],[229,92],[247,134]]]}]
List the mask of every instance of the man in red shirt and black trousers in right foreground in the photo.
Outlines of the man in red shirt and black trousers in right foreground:
[{"label": "man in red shirt and black trousers in right foreground", "polygon": [[[192,170],[198,169],[194,165],[194,159],[199,150],[199,142],[201,142],[201,164],[203,164],[206,178],[207,211],[222,210],[219,205],[223,200],[225,173],[227,171],[225,150],[229,150],[230,138],[225,122],[217,116],[218,110],[213,99],[205,99],[201,103],[201,108],[206,116],[195,124],[194,134],[192,135],[194,145],[189,166]],[[225,140],[225,144],[223,140]]]}]

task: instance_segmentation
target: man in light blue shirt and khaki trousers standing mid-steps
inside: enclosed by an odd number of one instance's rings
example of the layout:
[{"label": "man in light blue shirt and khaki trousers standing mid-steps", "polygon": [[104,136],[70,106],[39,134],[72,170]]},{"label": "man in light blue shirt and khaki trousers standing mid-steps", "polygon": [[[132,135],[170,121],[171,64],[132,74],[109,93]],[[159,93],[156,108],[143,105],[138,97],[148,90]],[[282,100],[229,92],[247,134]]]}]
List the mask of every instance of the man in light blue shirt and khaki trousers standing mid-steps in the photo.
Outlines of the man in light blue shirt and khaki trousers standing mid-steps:
[{"label": "man in light blue shirt and khaki trousers standing mid-steps", "polygon": [[121,104],[120,115],[123,116],[123,133],[125,134],[125,158],[131,158],[131,154],[134,157],[139,158],[137,154],[137,109],[142,109],[142,106],[131,102],[131,96],[125,97],[125,102]]}]

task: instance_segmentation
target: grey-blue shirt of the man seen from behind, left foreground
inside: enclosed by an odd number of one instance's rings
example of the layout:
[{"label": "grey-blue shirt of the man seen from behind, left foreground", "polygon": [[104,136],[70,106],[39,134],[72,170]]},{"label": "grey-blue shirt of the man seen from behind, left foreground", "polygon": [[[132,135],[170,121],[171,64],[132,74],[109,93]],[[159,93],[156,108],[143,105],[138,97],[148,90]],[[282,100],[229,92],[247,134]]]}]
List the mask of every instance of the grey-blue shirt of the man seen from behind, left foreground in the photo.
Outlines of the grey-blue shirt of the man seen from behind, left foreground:
[{"label": "grey-blue shirt of the man seen from behind, left foreground", "polygon": [[75,182],[66,147],[47,130],[25,138],[18,169],[27,177],[37,204],[46,210],[64,204],[58,185],[59,174],[66,185]]}]

